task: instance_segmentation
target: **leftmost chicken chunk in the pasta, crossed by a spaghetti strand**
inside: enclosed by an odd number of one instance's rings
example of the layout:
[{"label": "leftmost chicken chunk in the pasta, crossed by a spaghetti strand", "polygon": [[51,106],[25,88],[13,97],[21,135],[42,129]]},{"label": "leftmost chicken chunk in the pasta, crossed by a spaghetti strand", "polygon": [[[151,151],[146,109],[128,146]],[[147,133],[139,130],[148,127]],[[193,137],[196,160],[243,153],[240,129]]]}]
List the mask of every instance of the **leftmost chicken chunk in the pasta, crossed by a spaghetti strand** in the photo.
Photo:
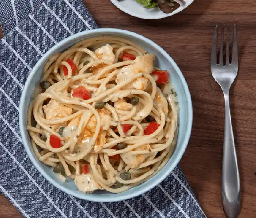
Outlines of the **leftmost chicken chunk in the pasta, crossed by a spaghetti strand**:
[{"label": "leftmost chicken chunk in the pasta, crossed by a spaghetti strand", "polygon": [[[43,106],[43,110],[45,113],[45,118],[46,120],[58,120],[60,118],[63,118],[65,116],[69,116],[72,113],[72,108],[69,108],[55,100],[50,100],[47,105]],[[60,124],[55,124],[51,125],[52,129],[57,129],[60,126],[66,126],[67,121],[60,123]]]}]

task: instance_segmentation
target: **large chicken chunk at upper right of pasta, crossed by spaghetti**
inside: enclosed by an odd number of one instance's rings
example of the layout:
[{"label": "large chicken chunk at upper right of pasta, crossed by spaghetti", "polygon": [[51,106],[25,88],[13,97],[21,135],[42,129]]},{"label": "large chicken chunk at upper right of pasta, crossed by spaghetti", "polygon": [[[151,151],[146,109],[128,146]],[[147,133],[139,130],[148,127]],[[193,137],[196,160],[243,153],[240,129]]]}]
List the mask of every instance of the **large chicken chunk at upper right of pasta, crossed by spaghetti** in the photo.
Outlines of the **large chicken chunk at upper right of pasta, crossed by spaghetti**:
[{"label": "large chicken chunk at upper right of pasta, crossed by spaghetti", "polygon": [[[126,81],[136,73],[151,73],[153,70],[153,60],[155,58],[154,54],[145,54],[137,56],[134,62],[123,67],[119,73],[117,73],[116,83],[120,84]],[[147,88],[148,79],[144,77],[137,78],[133,82],[124,86],[123,89],[139,89],[145,90]]]}]

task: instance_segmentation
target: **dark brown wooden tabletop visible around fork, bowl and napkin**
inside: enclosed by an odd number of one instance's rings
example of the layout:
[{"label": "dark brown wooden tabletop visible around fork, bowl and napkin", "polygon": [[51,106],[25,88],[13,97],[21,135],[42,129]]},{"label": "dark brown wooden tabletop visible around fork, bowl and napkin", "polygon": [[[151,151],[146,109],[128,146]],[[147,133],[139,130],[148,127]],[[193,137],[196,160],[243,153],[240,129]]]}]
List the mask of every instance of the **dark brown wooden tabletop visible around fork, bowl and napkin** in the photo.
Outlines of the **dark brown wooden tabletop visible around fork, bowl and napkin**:
[{"label": "dark brown wooden tabletop visible around fork, bowl and napkin", "polygon": [[[180,164],[208,218],[225,218],[221,205],[224,99],[210,73],[212,33],[215,24],[237,24],[240,69],[230,93],[230,103],[241,178],[239,218],[254,218],[256,2],[195,0],[185,11],[155,21],[125,14],[108,0],[85,2],[100,27],[122,28],[150,38],[162,46],[182,70],[193,100],[193,129]],[[0,196],[0,217],[22,216]]]}]

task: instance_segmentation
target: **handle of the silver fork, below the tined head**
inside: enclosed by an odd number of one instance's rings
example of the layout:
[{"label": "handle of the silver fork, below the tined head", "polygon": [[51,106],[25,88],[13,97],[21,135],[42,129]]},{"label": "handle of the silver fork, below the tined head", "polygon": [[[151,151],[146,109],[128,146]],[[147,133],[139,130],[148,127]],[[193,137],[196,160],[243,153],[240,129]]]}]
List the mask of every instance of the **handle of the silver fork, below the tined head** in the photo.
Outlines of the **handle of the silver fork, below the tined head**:
[{"label": "handle of the silver fork, below the tined head", "polygon": [[233,128],[229,107],[229,94],[225,94],[225,127],[221,175],[222,205],[228,218],[236,218],[240,209],[240,178]]}]

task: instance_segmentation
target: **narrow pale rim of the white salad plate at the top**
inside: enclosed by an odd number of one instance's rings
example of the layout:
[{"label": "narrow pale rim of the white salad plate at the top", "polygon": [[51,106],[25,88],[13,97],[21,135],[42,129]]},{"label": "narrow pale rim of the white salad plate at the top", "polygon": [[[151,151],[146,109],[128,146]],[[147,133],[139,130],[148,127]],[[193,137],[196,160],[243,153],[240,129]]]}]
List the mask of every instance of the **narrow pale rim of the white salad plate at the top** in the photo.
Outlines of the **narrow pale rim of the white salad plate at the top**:
[{"label": "narrow pale rim of the white salad plate at the top", "polygon": [[[162,18],[166,18],[166,17],[169,17],[169,16],[173,16],[174,14],[176,13],[180,13],[180,11],[183,11],[185,8],[188,8],[189,5],[191,5],[194,0],[191,0],[189,3],[186,3],[185,6],[183,7],[179,7],[177,8],[175,11],[173,11],[172,13],[163,13],[163,14],[160,14],[160,15],[152,15],[152,17],[150,15],[148,16],[145,16],[145,15],[140,15],[138,13],[133,13],[133,11],[130,11],[130,10],[127,10],[124,6],[122,6],[119,1],[117,0],[110,0],[112,2],[112,4],[114,4],[117,8],[119,8],[121,11],[131,15],[131,16],[134,16],[134,17],[138,17],[138,18],[141,18],[141,19],[148,19],[148,20],[154,20],[154,19],[162,19]],[[141,6],[143,7],[143,6]],[[150,10],[150,9],[149,9]]]}]

